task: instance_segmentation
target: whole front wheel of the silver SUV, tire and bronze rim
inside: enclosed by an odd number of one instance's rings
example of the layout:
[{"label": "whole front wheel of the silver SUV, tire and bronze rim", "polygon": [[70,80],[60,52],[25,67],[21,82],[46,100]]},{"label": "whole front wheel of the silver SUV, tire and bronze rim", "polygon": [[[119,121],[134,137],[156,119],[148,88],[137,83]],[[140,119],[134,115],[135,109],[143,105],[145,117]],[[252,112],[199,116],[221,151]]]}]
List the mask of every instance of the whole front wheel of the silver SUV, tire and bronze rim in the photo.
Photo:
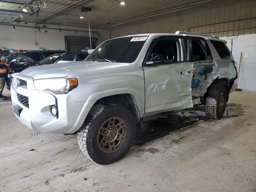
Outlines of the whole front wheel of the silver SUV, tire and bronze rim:
[{"label": "whole front wheel of the silver SUV, tire and bronze rim", "polygon": [[78,130],[78,145],[84,155],[98,164],[116,162],[130,150],[135,122],[125,106],[96,104]]}]

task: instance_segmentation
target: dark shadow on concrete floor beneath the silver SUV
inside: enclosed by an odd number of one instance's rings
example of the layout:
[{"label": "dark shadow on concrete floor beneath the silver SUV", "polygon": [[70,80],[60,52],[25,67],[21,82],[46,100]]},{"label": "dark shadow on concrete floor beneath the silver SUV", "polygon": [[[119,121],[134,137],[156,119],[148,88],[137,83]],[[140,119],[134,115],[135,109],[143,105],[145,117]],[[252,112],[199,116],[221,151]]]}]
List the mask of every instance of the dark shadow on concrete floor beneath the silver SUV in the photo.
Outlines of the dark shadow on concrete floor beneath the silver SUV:
[{"label": "dark shadow on concrete floor beneath the silver SUV", "polygon": [[[234,110],[226,109],[223,118],[237,116]],[[162,138],[172,132],[185,130],[194,125],[198,120],[208,121],[205,116],[204,106],[191,109],[164,112],[142,118],[141,127],[137,130],[134,146]]]}]

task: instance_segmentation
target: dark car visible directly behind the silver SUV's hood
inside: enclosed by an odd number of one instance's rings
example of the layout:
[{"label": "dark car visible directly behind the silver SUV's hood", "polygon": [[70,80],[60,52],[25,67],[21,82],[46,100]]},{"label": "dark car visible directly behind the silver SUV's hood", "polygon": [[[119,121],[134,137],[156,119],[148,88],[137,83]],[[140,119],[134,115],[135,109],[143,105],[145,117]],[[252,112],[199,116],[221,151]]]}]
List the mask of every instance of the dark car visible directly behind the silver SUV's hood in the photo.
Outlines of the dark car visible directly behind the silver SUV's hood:
[{"label": "dark car visible directly behind the silver SUV's hood", "polygon": [[52,63],[64,63],[72,61],[83,61],[88,56],[85,52],[69,52],[69,53],[57,53],[46,57],[39,63],[41,65],[52,64]]}]

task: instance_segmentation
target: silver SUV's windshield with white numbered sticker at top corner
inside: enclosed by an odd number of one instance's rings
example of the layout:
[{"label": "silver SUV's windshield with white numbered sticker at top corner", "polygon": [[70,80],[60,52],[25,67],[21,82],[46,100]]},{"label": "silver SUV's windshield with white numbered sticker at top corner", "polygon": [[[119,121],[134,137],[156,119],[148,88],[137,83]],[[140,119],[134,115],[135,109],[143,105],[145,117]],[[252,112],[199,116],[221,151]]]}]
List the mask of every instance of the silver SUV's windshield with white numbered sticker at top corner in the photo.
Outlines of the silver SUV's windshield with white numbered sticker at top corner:
[{"label": "silver SUV's windshield with white numbered sticker at top corner", "polygon": [[86,60],[132,63],[148,37],[123,37],[105,41]]}]

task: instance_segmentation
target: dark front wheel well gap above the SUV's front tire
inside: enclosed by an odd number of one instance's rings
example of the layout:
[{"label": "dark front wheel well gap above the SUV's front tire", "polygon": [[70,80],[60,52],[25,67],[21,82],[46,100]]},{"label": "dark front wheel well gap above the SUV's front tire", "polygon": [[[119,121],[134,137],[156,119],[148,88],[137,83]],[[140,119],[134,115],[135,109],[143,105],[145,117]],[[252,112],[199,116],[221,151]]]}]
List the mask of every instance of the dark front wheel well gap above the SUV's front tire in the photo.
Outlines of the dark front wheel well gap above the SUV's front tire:
[{"label": "dark front wheel well gap above the SUV's front tire", "polygon": [[136,102],[136,99],[132,94],[117,94],[117,95],[111,95],[107,97],[100,98],[99,100],[96,101],[95,104],[97,103],[118,103],[123,106],[126,106],[135,116],[137,122],[136,124],[138,125],[137,127],[139,128],[140,126],[140,111],[138,109],[138,104]]}]

